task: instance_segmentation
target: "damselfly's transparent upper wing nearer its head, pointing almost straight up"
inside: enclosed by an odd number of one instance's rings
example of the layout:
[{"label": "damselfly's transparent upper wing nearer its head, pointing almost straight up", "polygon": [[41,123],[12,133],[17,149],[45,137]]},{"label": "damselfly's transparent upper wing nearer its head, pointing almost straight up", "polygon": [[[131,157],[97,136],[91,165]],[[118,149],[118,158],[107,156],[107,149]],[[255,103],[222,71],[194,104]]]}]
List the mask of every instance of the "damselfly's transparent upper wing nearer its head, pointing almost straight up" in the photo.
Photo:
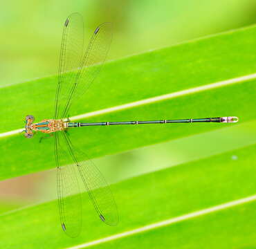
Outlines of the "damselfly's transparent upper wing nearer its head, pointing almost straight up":
[{"label": "damselfly's transparent upper wing nearer its head, pointing almost straight up", "polygon": [[55,95],[53,118],[61,116],[61,111],[71,94],[78,71],[82,66],[84,49],[84,23],[78,13],[71,14],[64,23],[60,49],[59,76]]}]

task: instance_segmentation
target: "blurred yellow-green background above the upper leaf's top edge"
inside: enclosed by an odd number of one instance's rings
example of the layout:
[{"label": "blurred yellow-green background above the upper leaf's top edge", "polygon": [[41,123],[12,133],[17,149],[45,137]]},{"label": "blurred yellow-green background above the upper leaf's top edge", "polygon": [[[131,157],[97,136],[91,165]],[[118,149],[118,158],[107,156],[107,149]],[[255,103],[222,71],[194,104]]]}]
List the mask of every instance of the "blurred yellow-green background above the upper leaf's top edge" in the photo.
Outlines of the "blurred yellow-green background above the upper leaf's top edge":
[{"label": "blurred yellow-green background above the upper leaf's top edge", "polygon": [[115,25],[109,59],[255,23],[254,0],[3,1],[0,86],[57,72],[62,25],[84,16],[86,38],[104,21]]}]

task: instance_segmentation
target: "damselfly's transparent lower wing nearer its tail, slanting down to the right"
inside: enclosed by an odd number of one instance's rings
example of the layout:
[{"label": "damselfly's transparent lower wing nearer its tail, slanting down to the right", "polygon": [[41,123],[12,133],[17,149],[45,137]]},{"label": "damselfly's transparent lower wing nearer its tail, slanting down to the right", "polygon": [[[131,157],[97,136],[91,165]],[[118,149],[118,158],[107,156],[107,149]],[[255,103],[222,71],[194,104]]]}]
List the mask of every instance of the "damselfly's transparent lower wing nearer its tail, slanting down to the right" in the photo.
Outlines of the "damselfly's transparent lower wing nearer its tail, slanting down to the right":
[{"label": "damselfly's transparent lower wing nearer its tail, slanting down to the right", "polygon": [[[119,222],[118,209],[104,176],[84,153],[77,148],[74,149],[66,133],[62,134],[68,149],[70,149],[73,158],[75,158],[78,172],[98,216],[107,225],[117,225]],[[86,159],[84,160],[84,158]]]}]

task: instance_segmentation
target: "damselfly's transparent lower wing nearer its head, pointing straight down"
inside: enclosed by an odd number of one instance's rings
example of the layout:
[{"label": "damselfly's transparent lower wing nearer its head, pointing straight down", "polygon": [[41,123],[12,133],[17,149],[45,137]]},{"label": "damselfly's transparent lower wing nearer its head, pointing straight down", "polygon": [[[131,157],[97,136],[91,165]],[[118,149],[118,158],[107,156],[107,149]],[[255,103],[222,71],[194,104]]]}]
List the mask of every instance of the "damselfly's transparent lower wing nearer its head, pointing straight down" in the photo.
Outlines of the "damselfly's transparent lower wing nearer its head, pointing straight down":
[{"label": "damselfly's transparent lower wing nearer its head, pointing straight down", "polygon": [[60,223],[69,237],[77,237],[82,228],[82,198],[77,182],[77,166],[65,145],[62,136],[56,132],[55,158]]}]

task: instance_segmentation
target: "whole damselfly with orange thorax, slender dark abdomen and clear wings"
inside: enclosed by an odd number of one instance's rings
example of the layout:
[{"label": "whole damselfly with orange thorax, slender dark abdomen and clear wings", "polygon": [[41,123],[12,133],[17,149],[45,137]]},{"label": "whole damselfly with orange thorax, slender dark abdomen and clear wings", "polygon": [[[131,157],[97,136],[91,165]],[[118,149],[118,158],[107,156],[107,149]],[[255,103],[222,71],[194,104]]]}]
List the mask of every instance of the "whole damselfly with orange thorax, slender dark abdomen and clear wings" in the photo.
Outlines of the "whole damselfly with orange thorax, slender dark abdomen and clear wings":
[{"label": "whole damselfly with orange thorax, slender dark abdomen and clear wings", "polygon": [[116,225],[118,210],[111,190],[97,167],[73,146],[66,129],[94,125],[116,124],[170,124],[193,122],[237,122],[237,117],[188,118],[182,120],[153,120],[125,122],[70,122],[66,120],[71,105],[79,100],[100,72],[111,44],[112,26],[104,23],[94,30],[85,53],[84,24],[74,13],[65,23],[60,51],[59,77],[55,95],[53,119],[33,123],[33,116],[26,116],[25,136],[32,138],[35,131],[54,133],[55,161],[57,165],[57,192],[62,229],[75,237],[82,228],[82,199],[77,177],[82,179],[96,213],[104,223]]}]

